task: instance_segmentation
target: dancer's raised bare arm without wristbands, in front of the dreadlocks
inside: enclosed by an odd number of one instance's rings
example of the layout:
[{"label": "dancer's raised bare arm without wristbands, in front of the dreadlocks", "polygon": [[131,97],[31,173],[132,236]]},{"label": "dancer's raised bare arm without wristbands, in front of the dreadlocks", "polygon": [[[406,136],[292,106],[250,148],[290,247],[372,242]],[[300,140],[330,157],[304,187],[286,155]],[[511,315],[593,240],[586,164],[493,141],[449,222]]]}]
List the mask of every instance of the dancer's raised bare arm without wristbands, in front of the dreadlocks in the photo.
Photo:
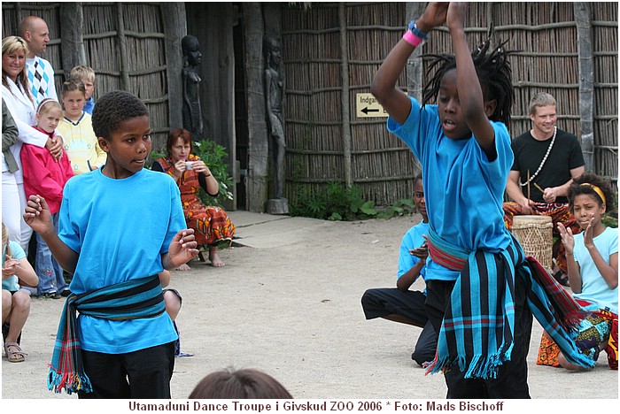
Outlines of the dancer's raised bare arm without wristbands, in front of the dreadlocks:
[{"label": "dancer's raised bare arm without wristbands, in front of the dreadlocks", "polygon": [[488,117],[492,115],[495,103],[494,101],[484,102],[476,67],[465,37],[466,11],[466,3],[450,3],[446,17],[446,24],[452,36],[456,57],[457,89],[465,122],[467,122],[469,130],[476,137],[489,161],[492,161],[497,157],[497,152],[495,150],[495,131]]}]

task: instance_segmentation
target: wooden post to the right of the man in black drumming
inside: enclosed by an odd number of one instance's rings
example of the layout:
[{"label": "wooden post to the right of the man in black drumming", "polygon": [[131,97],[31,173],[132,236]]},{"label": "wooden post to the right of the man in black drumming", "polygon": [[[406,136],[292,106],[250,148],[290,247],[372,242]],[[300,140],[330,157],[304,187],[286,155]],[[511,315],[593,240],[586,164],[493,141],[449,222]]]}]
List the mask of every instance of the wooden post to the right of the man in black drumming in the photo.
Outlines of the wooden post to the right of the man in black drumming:
[{"label": "wooden post to the right of the man in black drumming", "polygon": [[585,171],[594,171],[594,63],[591,4],[573,3],[577,22],[577,54],[579,57],[579,118],[581,119],[581,150]]}]

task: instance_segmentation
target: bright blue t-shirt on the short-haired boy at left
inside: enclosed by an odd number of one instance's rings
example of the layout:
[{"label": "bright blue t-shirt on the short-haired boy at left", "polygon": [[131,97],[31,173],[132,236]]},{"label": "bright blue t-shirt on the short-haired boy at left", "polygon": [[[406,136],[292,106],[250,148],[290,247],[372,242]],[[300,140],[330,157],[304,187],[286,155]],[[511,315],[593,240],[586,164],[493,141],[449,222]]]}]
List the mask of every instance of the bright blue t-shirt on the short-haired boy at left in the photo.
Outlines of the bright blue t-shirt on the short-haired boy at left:
[{"label": "bright blue t-shirt on the short-haired boy at left", "polygon": [[[66,182],[58,236],[80,257],[71,281],[77,295],[163,270],[174,234],[185,228],[181,195],[167,174],[143,169],[121,180],[101,169]],[[174,341],[164,312],[156,318],[106,320],[81,315],[81,348],[127,353]]]}]

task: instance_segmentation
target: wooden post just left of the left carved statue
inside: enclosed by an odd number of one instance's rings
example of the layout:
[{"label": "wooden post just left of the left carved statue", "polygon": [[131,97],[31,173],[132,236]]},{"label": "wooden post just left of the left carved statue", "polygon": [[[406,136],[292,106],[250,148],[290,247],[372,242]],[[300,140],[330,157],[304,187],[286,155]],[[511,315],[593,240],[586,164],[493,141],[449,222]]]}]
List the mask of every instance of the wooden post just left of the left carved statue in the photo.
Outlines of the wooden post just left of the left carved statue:
[{"label": "wooden post just left of the left carved statue", "polygon": [[182,126],[182,105],[177,103],[182,102],[183,99],[181,39],[187,35],[185,4],[165,2],[161,3],[159,7],[164,23],[164,34],[166,35],[164,48],[166,50],[168,84],[168,125],[172,127]]}]

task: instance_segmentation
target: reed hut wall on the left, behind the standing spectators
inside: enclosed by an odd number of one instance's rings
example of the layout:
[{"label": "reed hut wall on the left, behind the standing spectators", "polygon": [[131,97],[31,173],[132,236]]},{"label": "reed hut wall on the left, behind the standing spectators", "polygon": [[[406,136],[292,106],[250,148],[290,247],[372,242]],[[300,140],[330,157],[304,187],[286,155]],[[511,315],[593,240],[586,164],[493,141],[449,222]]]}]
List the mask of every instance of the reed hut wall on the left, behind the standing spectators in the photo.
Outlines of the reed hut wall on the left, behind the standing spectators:
[{"label": "reed hut wall on the left, behind the standing spectators", "polygon": [[[17,32],[28,15],[45,19],[50,43],[43,58],[50,61],[60,96],[71,68],[62,65],[59,10],[63,4],[3,3],[3,37]],[[151,113],[153,149],[167,137],[168,95],[165,35],[159,4],[83,3],[83,42],[86,65],[97,76],[95,100],[115,89],[140,97]]]}]

